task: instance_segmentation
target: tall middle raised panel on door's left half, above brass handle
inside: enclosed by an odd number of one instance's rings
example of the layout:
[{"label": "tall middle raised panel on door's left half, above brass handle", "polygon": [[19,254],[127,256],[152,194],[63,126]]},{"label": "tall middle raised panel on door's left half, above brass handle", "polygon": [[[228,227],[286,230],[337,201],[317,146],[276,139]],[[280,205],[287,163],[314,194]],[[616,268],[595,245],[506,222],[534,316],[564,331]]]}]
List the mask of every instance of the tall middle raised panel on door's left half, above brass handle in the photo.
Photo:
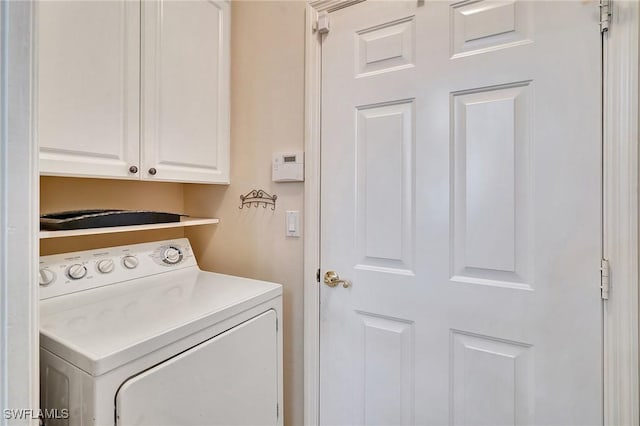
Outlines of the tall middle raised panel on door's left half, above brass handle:
[{"label": "tall middle raised panel on door's left half, above brass handle", "polygon": [[357,111],[358,269],[411,273],[413,110],[412,101],[403,101]]}]

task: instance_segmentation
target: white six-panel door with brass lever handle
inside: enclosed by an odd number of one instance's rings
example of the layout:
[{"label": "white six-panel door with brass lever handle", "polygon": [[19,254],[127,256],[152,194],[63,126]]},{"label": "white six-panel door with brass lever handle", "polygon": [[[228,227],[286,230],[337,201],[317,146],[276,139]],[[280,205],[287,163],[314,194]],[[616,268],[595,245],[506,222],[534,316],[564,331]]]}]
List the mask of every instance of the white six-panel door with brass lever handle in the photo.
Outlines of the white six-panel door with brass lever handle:
[{"label": "white six-panel door with brass lever handle", "polygon": [[330,15],[320,423],[601,424],[597,2]]}]

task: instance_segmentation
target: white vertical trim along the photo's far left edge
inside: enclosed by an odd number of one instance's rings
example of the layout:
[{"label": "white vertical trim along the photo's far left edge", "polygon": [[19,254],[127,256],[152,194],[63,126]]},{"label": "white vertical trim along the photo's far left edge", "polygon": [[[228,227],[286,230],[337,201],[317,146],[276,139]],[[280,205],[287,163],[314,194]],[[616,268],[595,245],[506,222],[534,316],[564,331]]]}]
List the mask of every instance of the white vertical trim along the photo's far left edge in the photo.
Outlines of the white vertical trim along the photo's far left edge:
[{"label": "white vertical trim along the photo's far left edge", "polygon": [[[32,135],[33,2],[1,1],[0,20],[0,408],[37,410],[39,180]],[[8,420],[1,412],[0,424],[38,424],[37,419]]]}]

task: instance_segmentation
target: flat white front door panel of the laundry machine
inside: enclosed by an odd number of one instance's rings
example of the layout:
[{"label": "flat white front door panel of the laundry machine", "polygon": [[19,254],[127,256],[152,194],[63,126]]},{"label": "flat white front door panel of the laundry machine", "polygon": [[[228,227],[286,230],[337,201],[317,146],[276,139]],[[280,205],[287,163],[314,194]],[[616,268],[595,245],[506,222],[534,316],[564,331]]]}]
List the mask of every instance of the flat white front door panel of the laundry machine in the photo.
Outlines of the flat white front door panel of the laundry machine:
[{"label": "flat white front door panel of the laundry machine", "polygon": [[276,319],[267,311],[128,379],[116,394],[116,424],[280,424]]}]

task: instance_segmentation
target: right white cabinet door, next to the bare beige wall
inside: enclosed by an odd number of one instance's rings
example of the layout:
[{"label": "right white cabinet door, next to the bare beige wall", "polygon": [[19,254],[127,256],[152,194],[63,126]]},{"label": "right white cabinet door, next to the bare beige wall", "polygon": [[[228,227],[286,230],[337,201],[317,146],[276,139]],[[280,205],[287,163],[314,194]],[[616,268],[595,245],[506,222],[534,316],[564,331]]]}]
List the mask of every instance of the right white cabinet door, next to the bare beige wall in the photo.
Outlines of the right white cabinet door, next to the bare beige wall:
[{"label": "right white cabinet door, next to the bare beige wall", "polygon": [[143,179],[228,183],[229,9],[142,2]]}]

